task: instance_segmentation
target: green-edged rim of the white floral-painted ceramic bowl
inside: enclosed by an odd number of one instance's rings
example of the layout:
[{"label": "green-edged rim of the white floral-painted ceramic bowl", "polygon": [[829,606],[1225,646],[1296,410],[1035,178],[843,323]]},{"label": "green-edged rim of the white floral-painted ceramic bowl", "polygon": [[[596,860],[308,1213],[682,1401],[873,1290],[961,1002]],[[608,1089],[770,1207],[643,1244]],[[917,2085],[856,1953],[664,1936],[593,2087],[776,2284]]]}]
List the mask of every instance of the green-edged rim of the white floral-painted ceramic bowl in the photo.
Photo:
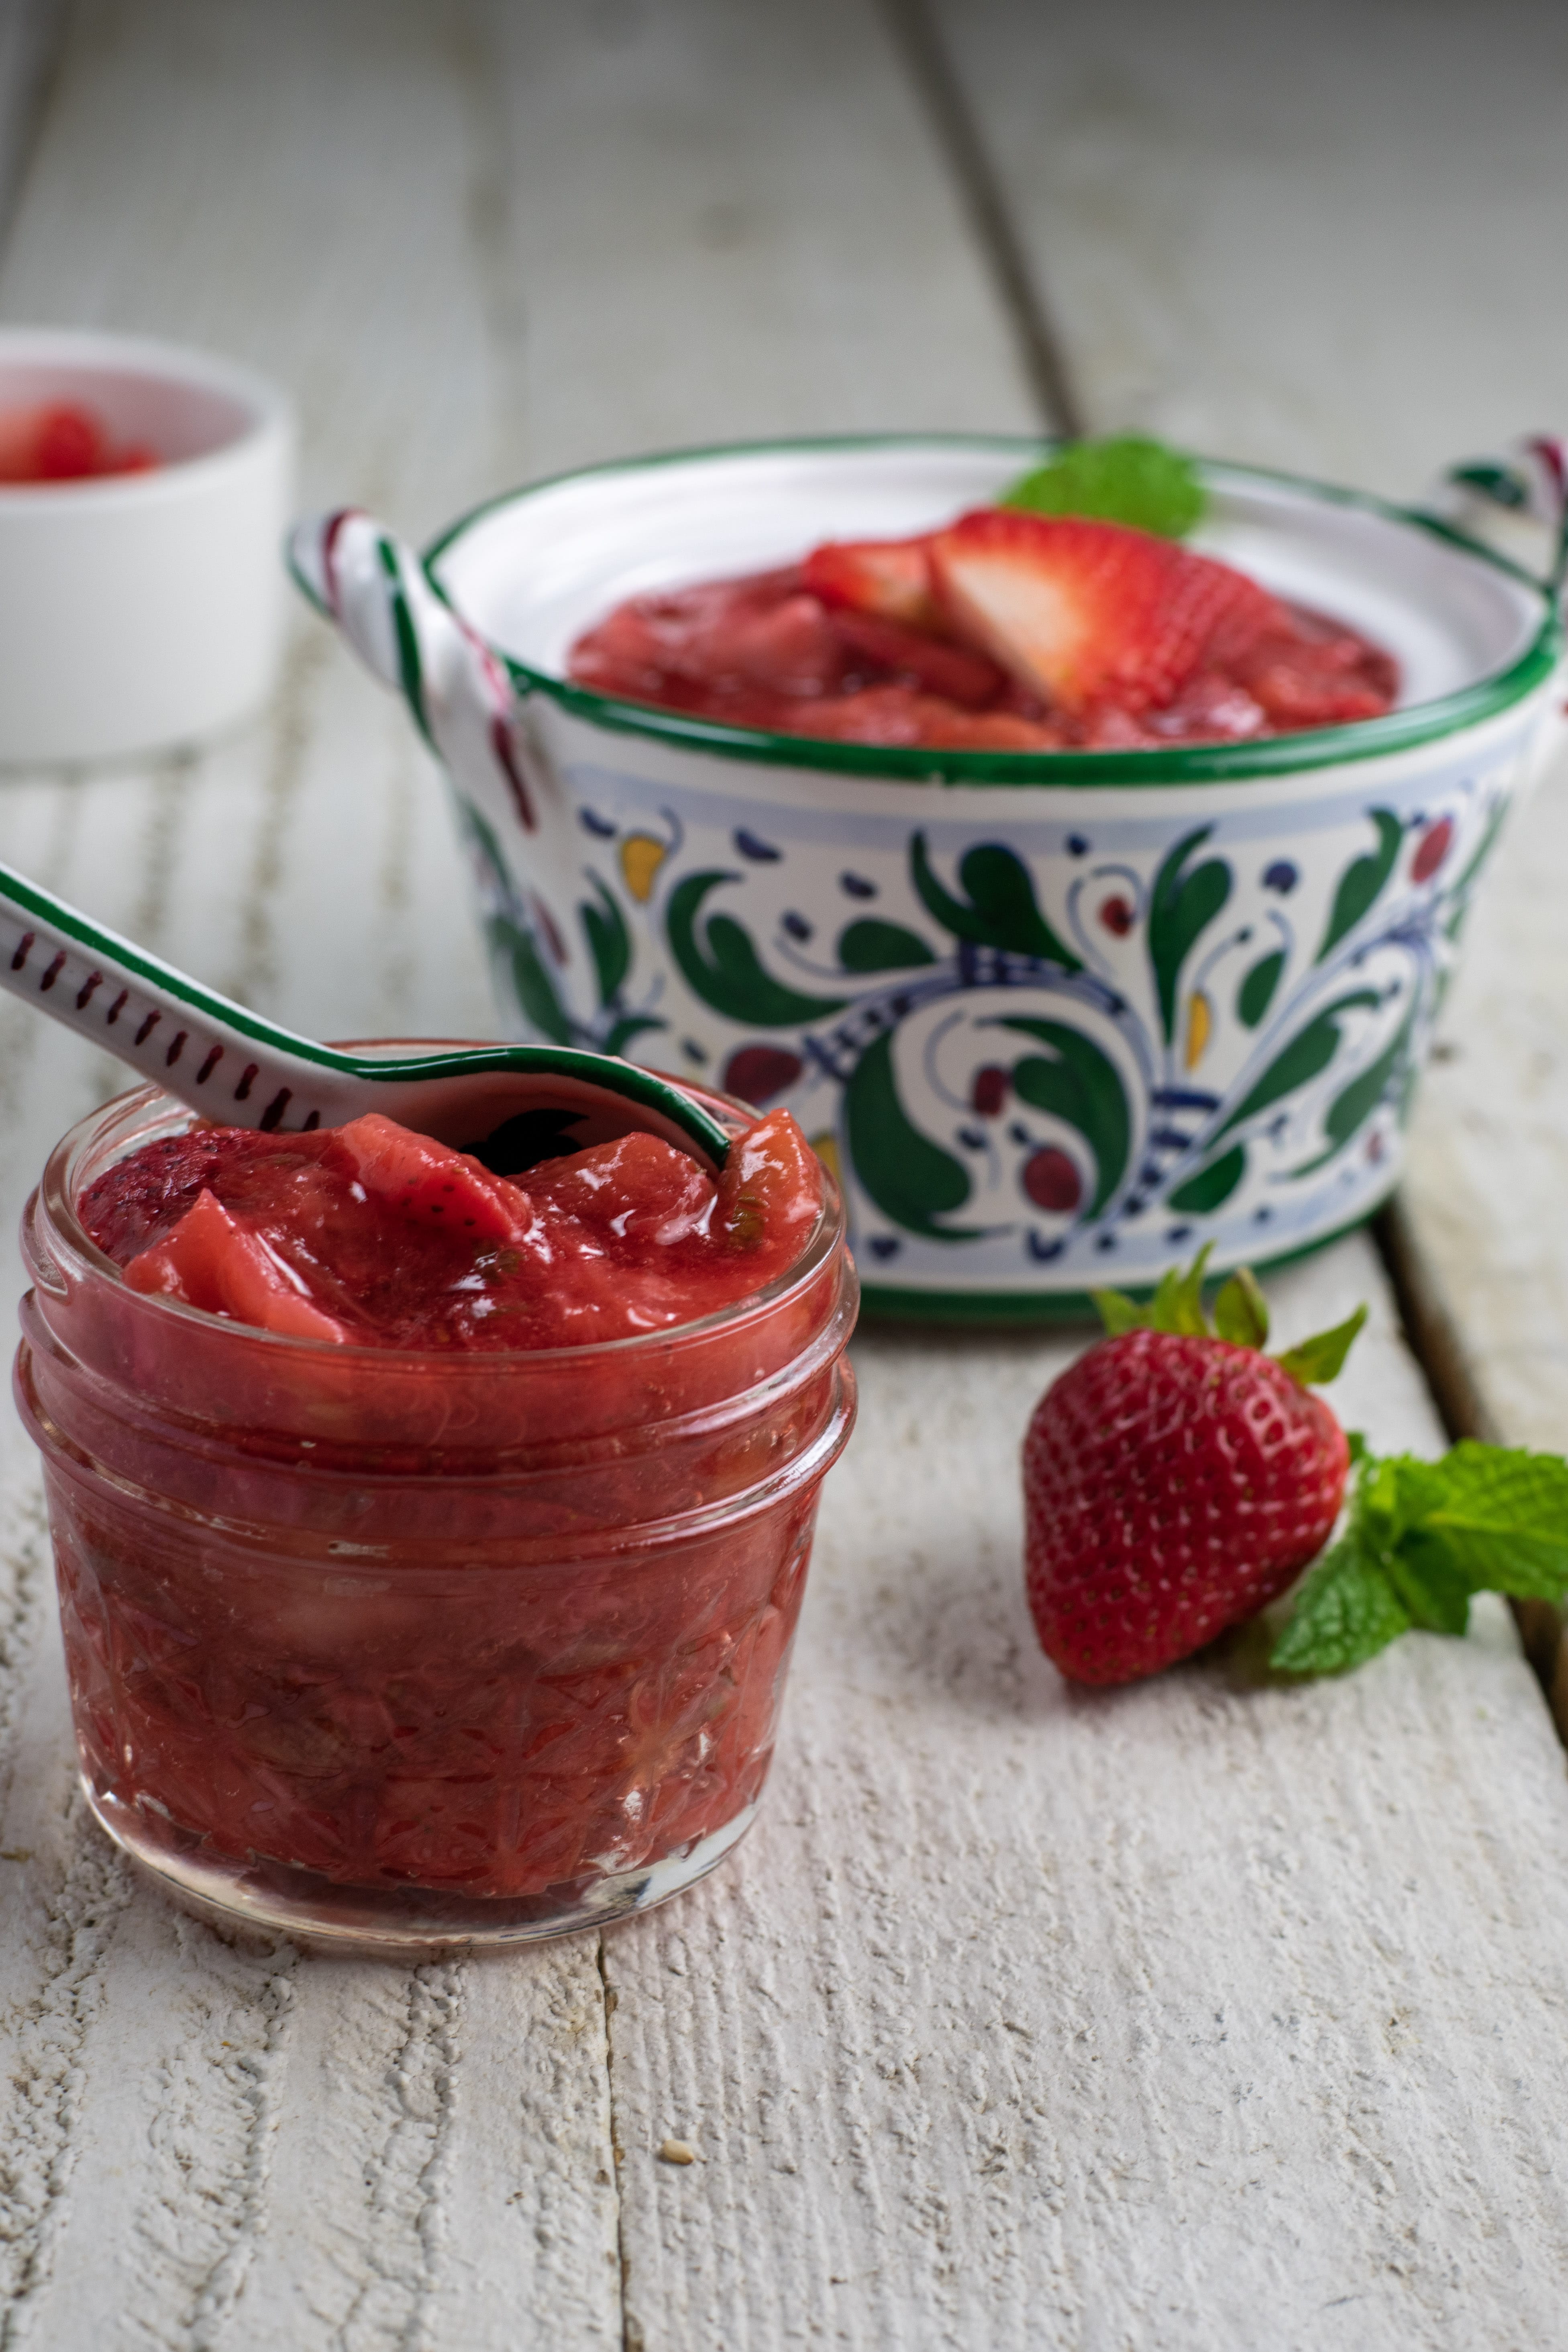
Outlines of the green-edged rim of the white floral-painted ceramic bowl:
[{"label": "green-edged rim of the white floral-painted ceramic bowl", "polygon": [[[877,449],[990,449],[997,454],[1016,454],[1023,468],[1027,461],[1037,461],[1053,447],[1058,447],[1058,442],[1051,435],[1023,433],[844,433],[766,442],[715,442],[698,449],[665,449],[654,456],[611,459],[602,466],[574,466],[567,473],[555,473],[541,482],[527,482],[522,489],[508,489],[487,499],[482,506],[470,508],[454,524],[449,524],[440,539],[425,548],[421,564],[430,590],[454,616],[458,616],[456,604],[435,574],[442,555],[456,546],[468,529],[484,522],[487,515],[494,515],[505,506],[520,506],[524,499],[534,499],[545,489],[559,489],[562,482],[583,482],[595,475],[616,473],[649,473],[661,466],[689,466],[696,459],[792,456],[832,449],[858,449],[867,454]],[[1432,743],[1462,727],[1476,727],[1481,720],[1497,717],[1497,713],[1526,701],[1535,687],[1552,677],[1563,652],[1563,633],[1554,595],[1544,581],[1523,572],[1519,564],[1512,564],[1505,555],[1495,555],[1493,548],[1483,548],[1479,541],[1467,539],[1436,515],[1422,515],[1410,506],[1394,506],[1389,499],[1378,499],[1366,489],[1342,489],[1335,482],[1316,482],[1309,475],[1281,473],[1272,466],[1232,466],[1218,459],[1197,459],[1197,463],[1204,470],[1204,480],[1213,489],[1225,489],[1229,482],[1276,485],[1302,492],[1326,506],[1354,506],[1361,513],[1380,515],[1385,522],[1396,522],[1406,529],[1425,532],[1429,539],[1441,539],[1446,546],[1490,564],[1495,572],[1502,572],[1507,579],[1540,597],[1540,628],[1523,654],[1512,661],[1507,670],[1479,677],[1472,687],[1460,687],[1458,694],[1443,694],[1429,703],[1413,703],[1408,710],[1389,710],[1387,717],[1380,720],[1356,720],[1349,727],[1312,727],[1302,734],[1267,736],[1262,743],[1201,743],[1187,750],[1166,750],[1161,746],[1159,750],[985,753],[922,748],[898,750],[875,743],[823,743],[820,736],[783,736],[766,734],[759,727],[724,727],[715,720],[693,720],[675,710],[656,710],[649,703],[616,701],[609,694],[595,694],[590,687],[574,687],[569,680],[555,677],[550,670],[536,670],[496,644],[491,644],[489,652],[505,668],[520,694],[548,694],[562,710],[569,710],[574,717],[588,720],[595,727],[607,727],[614,734],[644,736],[656,743],[670,743],[679,750],[698,750],[726,760],[752,760],[764,767],[809,767],[849,776],[943,786],[1246,783],[1258,776],[1345,767],[1352,760],[1378,760],[1385,753],[1410,750],[1415,743]],[[473,623],[465,626],[473,628]]]}]

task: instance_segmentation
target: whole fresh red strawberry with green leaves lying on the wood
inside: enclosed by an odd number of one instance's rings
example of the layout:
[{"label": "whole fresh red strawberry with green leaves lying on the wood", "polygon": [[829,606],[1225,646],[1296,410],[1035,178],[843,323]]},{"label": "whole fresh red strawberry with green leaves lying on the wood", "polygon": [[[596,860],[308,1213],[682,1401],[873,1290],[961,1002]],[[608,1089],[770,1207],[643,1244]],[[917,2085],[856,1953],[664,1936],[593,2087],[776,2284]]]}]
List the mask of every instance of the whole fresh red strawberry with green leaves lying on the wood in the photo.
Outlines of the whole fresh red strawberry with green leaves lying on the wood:
[{"label": "whole fresh red strawberry with green leaves lying on the wood", "polygon": [[1305,1383],[1335,1376],[1366,1310],[1269,1357],[1246,1272],[1220,1291],[1211,1331],[1206,1258],[1166,1275],[1147,1322],[1100,1294],[1112,1336],[1030,1421],[1030,1609],[1074,1682],[1135,1682],[1204,1649],[1284,1592],[1340,1515],[1349,1442]]}]

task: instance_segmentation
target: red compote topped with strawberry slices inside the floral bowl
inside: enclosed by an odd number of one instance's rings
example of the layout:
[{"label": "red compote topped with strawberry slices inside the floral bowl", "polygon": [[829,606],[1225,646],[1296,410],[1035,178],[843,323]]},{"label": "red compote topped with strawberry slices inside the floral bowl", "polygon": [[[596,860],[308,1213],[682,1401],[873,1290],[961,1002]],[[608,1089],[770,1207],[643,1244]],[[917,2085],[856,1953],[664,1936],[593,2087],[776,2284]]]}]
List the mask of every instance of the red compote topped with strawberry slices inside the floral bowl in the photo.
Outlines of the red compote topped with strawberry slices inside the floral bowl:
[{"label": "red compote topped with strawberry slices inside the floral bowl", "polygon": [[771,734],[950,750],[1227,743],[1378,717],[1399,689],[1380,647],[1211,555],[1011,508],[628,597],[569,675]]}]

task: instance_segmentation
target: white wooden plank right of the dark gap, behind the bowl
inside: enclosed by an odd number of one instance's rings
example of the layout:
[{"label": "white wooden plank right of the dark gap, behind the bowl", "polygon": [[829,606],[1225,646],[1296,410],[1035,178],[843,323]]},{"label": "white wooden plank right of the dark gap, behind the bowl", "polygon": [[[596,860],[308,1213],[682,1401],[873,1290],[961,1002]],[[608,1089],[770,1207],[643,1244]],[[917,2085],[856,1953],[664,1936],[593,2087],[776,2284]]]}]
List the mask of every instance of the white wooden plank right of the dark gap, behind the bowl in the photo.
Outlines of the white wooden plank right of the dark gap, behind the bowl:
[{"label": "white wooden plank right of the dark gap, behind the bowl", "polygon": [[[1420,496],[1568,430],[1568,19],[938,0],[1100,426]],[[1410,1136],[1427,1312],[1486,1425],[1568,1446],[1568,760],[1488,877]]]}]

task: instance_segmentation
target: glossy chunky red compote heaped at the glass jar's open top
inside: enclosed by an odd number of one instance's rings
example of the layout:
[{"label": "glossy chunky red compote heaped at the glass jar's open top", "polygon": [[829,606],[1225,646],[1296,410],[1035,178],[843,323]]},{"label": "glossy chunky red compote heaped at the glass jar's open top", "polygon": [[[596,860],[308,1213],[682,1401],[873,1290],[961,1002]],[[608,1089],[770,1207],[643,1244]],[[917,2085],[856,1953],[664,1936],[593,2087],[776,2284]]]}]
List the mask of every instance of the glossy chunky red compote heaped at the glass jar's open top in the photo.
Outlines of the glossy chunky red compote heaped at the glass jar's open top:
[{"label": "glossy chunky red compote heaped at the glass jar's open top", "polygon": [[820,1204],[788,1110],[741,1136],[719,1178],[632,1134],[517,1181],[369,1112],[310,1136],[207,1127],[143,1143],[80,1214],[132,1289],[263,1331],[578,1348],[762,1289]]}]

